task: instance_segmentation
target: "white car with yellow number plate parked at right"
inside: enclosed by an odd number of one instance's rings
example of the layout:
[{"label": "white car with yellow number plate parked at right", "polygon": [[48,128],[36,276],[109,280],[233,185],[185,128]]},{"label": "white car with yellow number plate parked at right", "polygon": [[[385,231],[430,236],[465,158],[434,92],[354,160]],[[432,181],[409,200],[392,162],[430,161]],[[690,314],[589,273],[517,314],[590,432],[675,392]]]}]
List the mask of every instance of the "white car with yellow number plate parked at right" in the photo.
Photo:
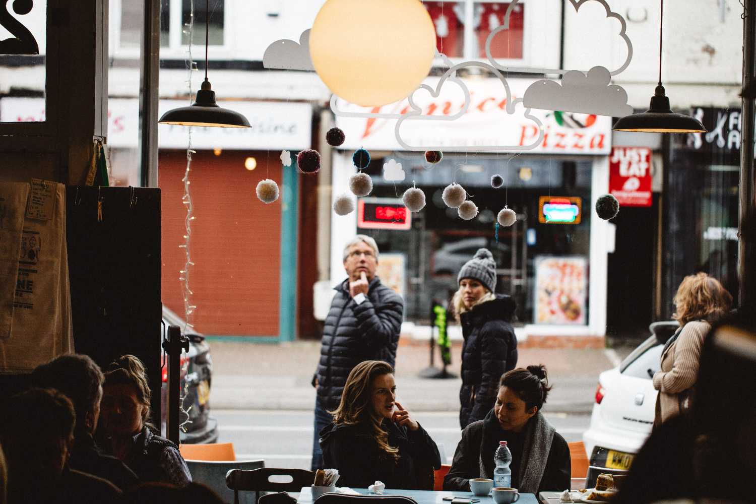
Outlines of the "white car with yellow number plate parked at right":
[{"label": "white car with yellow number plate parked at right", "polygon": [[665,342],[679,326],[675,321],[652,323],[645,342],[618,367],[600,374],[590,428],[583,434],[589,460],[586,488],[602,472],[627,472],[651,434],[657,394],[651,379],[659,370]]}]

